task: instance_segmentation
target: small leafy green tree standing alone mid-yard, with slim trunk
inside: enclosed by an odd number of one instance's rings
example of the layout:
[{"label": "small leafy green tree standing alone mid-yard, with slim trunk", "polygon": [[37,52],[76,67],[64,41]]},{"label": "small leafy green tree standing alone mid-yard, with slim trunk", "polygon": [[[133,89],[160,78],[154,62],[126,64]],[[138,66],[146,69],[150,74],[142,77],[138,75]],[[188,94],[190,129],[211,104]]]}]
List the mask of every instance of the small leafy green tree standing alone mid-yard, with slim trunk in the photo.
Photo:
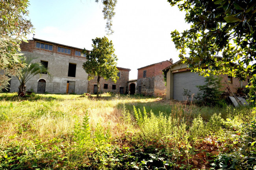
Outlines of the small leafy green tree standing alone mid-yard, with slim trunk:
[{"label": "small leafy green tree standing alone mid-yard, with slim trunk", "polygon": [[89,52],[83,49],[82,53],[86,54],[87,61],[83,63],[83,69],[88,73],[88,80],[97,77],[97,97],[100,90],[100,78],[111,79],[117,82],[117,56],[112,41],[109,42],[107,37],[92,39],[93,49]]}]

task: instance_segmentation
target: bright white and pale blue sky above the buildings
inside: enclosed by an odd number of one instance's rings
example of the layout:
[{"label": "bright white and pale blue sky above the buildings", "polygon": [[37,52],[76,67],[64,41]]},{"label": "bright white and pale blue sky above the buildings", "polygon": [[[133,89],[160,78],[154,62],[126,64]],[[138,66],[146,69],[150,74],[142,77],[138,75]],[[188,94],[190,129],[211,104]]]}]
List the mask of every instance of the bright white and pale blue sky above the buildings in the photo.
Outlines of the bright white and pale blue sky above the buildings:
[{"label": "bright white and pale blue sky above the buildings", "polygon": [[[35,38],[90,50],[91,39],[107,36],[102,4],[95,0],[31,0],[28,10]],[[170,33],[189,29],[185,13],[166,0],[118,0],[115,13],[115,32],[107,37],[113,41],[117,66],[132,69],[130,79],[137,79],[137,68],[178,61]]]}]

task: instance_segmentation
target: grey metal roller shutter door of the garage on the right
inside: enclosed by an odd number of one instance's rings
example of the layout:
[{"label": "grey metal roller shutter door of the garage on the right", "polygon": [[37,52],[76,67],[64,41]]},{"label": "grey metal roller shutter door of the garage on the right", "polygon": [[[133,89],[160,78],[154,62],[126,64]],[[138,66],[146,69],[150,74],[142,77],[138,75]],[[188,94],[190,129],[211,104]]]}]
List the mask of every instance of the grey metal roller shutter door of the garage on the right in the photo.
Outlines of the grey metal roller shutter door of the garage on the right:
[{"label": "grey metal roller shutter door of the garage on the right", "polygon": [[[198,85],[205,84],[205,77],[199,76],[198,73],[181,72],[173,74],[173,99],[184,101],[184,88],[191,91],[191,94],[198,93]],[[191,100],[191,99],[190,99]]]}]

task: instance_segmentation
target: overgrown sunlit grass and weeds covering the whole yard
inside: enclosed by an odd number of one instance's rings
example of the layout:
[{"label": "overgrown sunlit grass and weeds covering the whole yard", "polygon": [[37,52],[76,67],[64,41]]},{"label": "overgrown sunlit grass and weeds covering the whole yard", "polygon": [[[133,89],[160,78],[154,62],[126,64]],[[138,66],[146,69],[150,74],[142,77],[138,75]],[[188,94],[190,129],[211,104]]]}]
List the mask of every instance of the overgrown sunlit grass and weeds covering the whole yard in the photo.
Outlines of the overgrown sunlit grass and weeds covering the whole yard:
[{"label": "overgrown sunlit grass and weeds covering the whole yard", "polygon": [[130,95],[0,93],[0,100],[0,169],[209,169],[222,165],[219,159],[227,167],[256,162],[246,158],[256,153],[247,146],[255,139],[255,111],[246,107]]}]

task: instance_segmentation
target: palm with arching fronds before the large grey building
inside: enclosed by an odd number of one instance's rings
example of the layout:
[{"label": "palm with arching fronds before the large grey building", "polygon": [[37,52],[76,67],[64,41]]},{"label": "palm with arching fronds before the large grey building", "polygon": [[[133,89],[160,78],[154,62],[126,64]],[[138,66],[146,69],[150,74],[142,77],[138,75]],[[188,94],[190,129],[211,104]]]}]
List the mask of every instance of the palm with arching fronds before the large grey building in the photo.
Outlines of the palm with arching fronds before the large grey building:
[{"label": "palm with arching fronds before the large grey building", "polygon": [[48,68],[45,68],[45,66],[40,62],[32,62],[33,59],[35,58],[24,58],[23,62],[26,66],[24,68],[21,68],[19,74],[16,75],[16,77],[20,81],[18,92],[19,97],[23,97],[24,95],[26,95],[26,82],[35,75],[39,74],[41,77],[41,73],[47,73],[49,77],[52,76]]}]

